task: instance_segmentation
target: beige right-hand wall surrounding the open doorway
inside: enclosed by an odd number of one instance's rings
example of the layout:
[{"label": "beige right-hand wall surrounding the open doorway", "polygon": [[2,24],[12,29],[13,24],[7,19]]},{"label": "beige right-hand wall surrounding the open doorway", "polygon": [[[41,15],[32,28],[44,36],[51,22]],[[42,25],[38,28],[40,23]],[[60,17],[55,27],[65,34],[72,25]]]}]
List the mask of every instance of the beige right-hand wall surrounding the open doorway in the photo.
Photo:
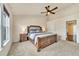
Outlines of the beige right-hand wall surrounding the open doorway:
[{"label": "beige right-hand wall surrounding the open doorway", "polygon": [[[48,28],[52,32],[55,31],[59,36],[61,36],[61,39],[66,40],[66,21],[69,20],[77,20],[79,22],[79,4],[73,4],[72,6],[63,9],[62,11],[58,12],[55,16],[50,16],[50,19],[48,21]],[[77,43],[79,43],[79,23],[77,23],[74,34],[77,35]],[[53,30],[52,30],[53,29]],[[50,31],[49,30],[49,31]],[[78,32],[77,32],[78,31]]]}]

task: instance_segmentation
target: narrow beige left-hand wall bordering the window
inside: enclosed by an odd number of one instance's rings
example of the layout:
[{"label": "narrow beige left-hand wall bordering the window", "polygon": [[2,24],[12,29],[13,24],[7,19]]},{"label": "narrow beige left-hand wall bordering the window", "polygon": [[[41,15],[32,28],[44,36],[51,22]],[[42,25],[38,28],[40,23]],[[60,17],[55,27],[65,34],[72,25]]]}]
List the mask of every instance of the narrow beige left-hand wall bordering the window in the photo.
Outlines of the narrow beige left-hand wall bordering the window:
[{"label": "narrow beige left-hand wall bordering the window", "polygon": [[0,56],[2,55],[2,56],[4,56],[4,55],[7,55],[8,54],[8,52],[9,52],[9,50],[10,50],[10,47],[11,47],[11,44],[12,44],[12,13],[11,13],[11,10],[10,10],[10,7],[6,4],[6,8],[7,8],[7,10],[9,11],[9,13],[10,13],[10,29],[11,29],[11,31],[10,31],[10,41],[7,43],[7,45],[5,45],[3,48],[2,48],[2,50],[0,51]]}]

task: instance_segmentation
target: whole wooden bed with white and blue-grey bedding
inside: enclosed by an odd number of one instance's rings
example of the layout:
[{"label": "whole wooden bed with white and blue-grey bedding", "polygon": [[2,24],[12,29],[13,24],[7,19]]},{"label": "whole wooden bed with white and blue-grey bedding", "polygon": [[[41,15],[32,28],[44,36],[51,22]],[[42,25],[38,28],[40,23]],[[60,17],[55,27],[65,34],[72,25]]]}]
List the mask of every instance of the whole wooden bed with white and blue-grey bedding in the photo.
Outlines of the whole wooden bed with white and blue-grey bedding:
[{"label": "whole wooden bed with white and blue-grey bedding", "polygon": [[57,34],[43,32],[42,27],[30,25],[27,27],[28,39],[36,46],[37,51],[57,42]]}]

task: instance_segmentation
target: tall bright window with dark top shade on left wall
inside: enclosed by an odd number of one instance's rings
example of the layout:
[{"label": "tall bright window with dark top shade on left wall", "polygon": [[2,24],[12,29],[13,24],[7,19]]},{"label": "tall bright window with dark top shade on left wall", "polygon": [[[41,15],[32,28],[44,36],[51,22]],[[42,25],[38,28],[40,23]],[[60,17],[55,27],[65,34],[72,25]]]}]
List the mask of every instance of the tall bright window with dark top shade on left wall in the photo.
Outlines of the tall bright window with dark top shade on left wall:
[{"label": "tall bright window with dark top shade on left wall", "polygon": [[1,47],[3,47],[10,40],[10,18],[9,18],[9,13],[4,5],[2,5],[2,9],[1,9],[0,27],[1,27],[0,28]]}]

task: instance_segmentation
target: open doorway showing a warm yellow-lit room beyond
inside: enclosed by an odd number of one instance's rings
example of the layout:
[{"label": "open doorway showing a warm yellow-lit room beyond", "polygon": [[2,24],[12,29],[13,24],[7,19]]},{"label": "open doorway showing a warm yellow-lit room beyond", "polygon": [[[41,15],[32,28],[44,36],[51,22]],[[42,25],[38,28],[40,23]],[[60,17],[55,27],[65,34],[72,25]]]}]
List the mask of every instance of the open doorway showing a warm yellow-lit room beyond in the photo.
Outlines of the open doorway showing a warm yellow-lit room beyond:
[{"label": "open doorway showing a warm yellow-lit room beyond", "polygon": [[75,37],[75,34],[74,34],[74,30],[75,30],[75,24],[76,24],[76,20],[73,20],[73,21],[67,21],[66,22],[66,31],[67,31],[67,40],[68,41],[74,41],[74,37]]}]

